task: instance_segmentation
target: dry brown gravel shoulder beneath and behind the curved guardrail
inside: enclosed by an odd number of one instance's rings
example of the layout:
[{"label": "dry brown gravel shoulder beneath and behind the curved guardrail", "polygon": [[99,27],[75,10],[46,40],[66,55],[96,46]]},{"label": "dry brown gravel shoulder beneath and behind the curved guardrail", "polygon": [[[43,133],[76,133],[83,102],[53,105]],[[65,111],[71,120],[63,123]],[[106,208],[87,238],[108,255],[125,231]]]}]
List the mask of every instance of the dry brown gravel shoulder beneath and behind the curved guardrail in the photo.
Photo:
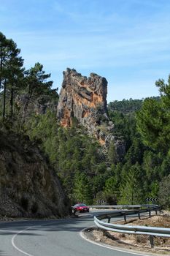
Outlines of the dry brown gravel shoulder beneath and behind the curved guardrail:
[{"label": "dry brown gravel shoulder beneath and behind the curved guardrail", "polygon": [[[134,218],[128,219],[127,222],[121,221],[114,223],[170,228],[170,213],[163,212],[163,214],[152,217],[142,217],[142,219]],[[170,238],[154,237],[154,247],[151,248],[150,239],[147,235],[115,233],[98,230],[97,228],[85,230],[84,235],[92,241],[108,244],[109,246],[131,249],[136,252],[146,252],[150,253],[150,255],[170,255]]]}]

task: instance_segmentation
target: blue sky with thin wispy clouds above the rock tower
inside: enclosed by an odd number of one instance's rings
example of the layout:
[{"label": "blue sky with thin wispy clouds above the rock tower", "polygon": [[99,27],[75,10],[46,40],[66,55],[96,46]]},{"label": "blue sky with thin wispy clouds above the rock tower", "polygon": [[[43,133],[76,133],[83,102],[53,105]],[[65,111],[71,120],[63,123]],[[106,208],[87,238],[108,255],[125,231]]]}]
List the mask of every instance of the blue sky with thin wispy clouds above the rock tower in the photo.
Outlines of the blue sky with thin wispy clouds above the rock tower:
[{"label": "blue sky with thin wispy clouds above the rock tower", "polygon": [[107,102],[142,99],[170,74],[169,0],[0,0],[0,28],[55,88],[70,67],[107,78]]}]

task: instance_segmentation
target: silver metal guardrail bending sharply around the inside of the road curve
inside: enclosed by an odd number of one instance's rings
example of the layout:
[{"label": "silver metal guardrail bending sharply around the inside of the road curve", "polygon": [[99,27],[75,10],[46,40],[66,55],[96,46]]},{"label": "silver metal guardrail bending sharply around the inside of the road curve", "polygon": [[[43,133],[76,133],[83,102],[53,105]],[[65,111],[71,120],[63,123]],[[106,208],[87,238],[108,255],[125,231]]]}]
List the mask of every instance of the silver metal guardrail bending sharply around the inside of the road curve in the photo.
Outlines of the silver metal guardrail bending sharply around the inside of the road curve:
[{"label": "silver metal guardrail bending sharply around the inside of the road curve", "polygon": [[[138,235],[149,235],[150,236],[150,244],[151,247],[154,246],[153,238],[154,236],[161,236],[161,237],[170,237],[170,228],[166,227],[146,227],[146,226],[131,226],[131,225],[117,225],[113,223],[109,223],[111,218],[114,217],[124,217],[126,222],[126,217],[131,214],[138,214],[138,217],[140,219],[140,214],[144,212],[149,212],[149,215],[151,217],[151,211],[155,211],[155,214],[157,214],[157,211],[159,210],[161,212],[161,209],[158,205],[141,205],[140,208],[147,206],[147,208],[143,209],[136,209],[136,210],[127,210],[127,211],[114,211],[109,214],[98,214],[94,217],[94,222],[97,227],[99,227],[102,230],[108,230],[118,233],[129,233],[129,234],[138,234]],[[130,208],[130,206],[128,206]],[[133,208],[136,208],[133,206]],[[101,221],[102,219],[108,219],[107,222]]]}]

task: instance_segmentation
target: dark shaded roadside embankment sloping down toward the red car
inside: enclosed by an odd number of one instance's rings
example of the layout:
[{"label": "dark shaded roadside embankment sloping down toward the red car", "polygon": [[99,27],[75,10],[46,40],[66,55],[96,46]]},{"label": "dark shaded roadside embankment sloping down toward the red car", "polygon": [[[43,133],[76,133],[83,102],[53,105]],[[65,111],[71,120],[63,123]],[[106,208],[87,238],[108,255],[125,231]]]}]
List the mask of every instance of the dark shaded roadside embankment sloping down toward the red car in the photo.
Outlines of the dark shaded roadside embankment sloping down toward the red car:
[{"label": "dark shaded roadside embankment sloping down toward the red car", "polygon": [[69,200],[39,149],[0,131],[0,217],[64,217]]}]

